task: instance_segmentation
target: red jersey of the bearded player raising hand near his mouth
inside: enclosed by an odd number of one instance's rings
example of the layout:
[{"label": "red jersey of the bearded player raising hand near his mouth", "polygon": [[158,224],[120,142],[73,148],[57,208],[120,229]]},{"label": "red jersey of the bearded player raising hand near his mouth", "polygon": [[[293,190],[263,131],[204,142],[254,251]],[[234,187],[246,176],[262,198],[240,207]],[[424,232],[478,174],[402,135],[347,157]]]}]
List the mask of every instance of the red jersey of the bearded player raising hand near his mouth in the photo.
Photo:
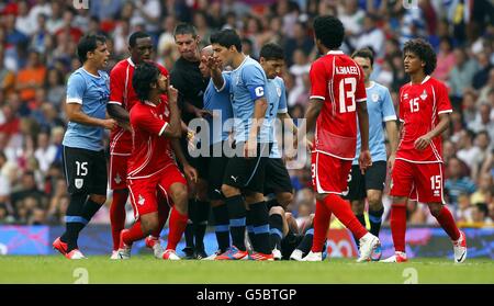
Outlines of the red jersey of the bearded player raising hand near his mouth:
[{"label": "red jersey of the bearded player raising hand near his mouth", "polygon": [[131,125],[133,141],[128,158],[127,179],[145,179],[175,163],[171,152],[170,138],[162,133],[170,123],[170,110],[166,97],[161,95],[161,103],[137,103],[131,110]]}]

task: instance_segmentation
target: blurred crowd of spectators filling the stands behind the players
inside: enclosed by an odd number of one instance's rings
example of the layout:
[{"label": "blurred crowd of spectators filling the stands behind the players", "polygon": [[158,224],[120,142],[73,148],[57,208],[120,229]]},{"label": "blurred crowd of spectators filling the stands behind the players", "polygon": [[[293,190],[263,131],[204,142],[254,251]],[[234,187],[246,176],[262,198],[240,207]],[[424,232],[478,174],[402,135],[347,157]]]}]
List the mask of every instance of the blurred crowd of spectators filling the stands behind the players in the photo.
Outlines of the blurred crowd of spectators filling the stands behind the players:
[{"label": "blurred crowd of spectators filling the stands behind the players", "polygon": [[[81,35],[109,37],[109,70],[128,56],[128,36],[138,30],[153,35],[156,61],[171,70],[179,57],[172,33],[180,21],[197,27],[202,45],[212,32],[235,29],[244,53],[254,58],[265,43],[276,42],[285,52],[289,111],[301,118],[308,100],[308,70],[318,56],[312,20],[333,14],[347,32],[345,53],[361,47],[374,50],[372,79],[390,89],[395,105],[400,87],[408,81],[401,53],[404,42],[423,37],[435,47],[438,61],[433,76],[448,84],[454,109],[444,137],[447,202],[460,225],[493,226],[494,4],[489,0],[408,3],[417,5],[405,8],[402,0],[1,1],[0,224],[64,222],[68,204],[60,145],[67,124],[65,84],[80,67],[76,46]],[[291,208],[303,222],[314,209],[311,172],[305,168],[290,174],[295,189]],[[390,199],[383,201],[388,223]],[[93,222],[109,223],[108,207]],[[435,225],[428,209],[415,202],[408,203],[408,223]]]}]

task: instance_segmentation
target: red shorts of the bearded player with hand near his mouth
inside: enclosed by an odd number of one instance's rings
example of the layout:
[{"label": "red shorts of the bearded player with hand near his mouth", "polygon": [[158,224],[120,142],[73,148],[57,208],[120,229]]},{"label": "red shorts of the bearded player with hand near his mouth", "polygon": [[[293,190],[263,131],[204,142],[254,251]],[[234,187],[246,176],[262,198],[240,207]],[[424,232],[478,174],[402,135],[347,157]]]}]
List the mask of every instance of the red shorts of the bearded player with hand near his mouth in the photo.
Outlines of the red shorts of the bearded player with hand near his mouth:
[{"label": "red shorts of the bearded player with hand near his mouth", "polygon": [[[131,204],[134,208],[134,218],[158,212],[158,204],[171,206],[170,186],[181,183],[187,186],[187,180],[176,165],[168,166],[165,170],[146,179],[127,180],[131,194]],[[158,203],[157,192],[167,203]]]}]

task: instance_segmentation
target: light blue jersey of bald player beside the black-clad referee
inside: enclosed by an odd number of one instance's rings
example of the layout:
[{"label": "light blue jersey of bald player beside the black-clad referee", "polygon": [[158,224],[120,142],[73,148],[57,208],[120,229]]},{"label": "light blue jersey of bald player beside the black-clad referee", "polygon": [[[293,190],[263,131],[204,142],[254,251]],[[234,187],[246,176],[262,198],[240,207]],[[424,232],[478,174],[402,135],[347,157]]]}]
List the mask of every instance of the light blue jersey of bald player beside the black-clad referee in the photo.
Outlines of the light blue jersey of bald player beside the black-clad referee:
[{"label": "light blue jersey of bald player beside the black-clad referee", "polygon": [[223,72],[225,84],[221,90],[216,90],[213,80],[210,80],[204,92],[204,110],[213,112],[213,117],[206,117],[210,125],[210,145],[228,138],[228,129],[223,127],[225,122],[233,117],[232,102],[227,90],[231,84],[229,75],[231,72]]}]

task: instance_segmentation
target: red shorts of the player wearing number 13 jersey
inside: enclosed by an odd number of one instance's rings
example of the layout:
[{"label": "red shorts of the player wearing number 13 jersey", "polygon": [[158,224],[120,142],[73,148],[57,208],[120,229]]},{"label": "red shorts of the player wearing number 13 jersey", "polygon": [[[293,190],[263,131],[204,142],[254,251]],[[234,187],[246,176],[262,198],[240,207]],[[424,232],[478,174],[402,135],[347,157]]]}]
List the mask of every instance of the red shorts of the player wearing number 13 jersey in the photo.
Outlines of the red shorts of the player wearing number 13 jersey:
[{"label": "red shorts of the player wearing number 13 jersey", "polygon": [[312,185],[317,193],[343,194],[348,191],[351,161],[315,151],[312,154]]}]

